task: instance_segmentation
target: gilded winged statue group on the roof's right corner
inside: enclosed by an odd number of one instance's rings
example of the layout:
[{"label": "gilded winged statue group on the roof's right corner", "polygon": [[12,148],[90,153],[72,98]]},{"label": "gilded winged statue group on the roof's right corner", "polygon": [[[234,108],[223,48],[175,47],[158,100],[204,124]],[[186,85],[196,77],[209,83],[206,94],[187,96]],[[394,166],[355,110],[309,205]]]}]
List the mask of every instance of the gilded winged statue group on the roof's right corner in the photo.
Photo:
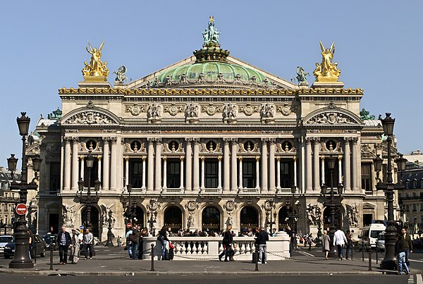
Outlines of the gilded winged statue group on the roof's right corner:
[{"label": "gilded winged statue group on the roof's right corner", "polygon": [[341,69],[338,69],[338,63],[332,63],[333,54],[335,54],[335,42],[332,42],[329,49],[325,49],[320,42],[321,49],[321,63],[316,63],[314,69],[314,76],[317,82],[337,82]]}]

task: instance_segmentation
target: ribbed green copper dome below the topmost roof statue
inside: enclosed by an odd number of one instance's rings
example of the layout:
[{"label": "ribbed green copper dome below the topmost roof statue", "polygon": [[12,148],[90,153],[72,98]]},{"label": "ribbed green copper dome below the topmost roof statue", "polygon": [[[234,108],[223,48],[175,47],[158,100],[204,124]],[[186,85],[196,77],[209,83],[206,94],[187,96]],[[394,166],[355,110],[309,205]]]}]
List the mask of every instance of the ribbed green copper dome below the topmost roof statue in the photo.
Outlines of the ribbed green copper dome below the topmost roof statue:
[{"label": "ribbed green copper dome below the topmost roof statue", "polygon": [[263,82],[266,78],[262,73],[235,64],[201,62],[167,70],[159,75],[159,82],[164,83],[168,79],[172,81],[180,81],[182,75],[184,74],[187,79],[191,80],[198,79],[200,74],[203,74],[206,80],[212,81],[217,80],[219,74],[222,75],[224,80],[235,80],[237,75],[239,75],[238,77],[243,81],[250,81],[254,77],[256,82]]}]

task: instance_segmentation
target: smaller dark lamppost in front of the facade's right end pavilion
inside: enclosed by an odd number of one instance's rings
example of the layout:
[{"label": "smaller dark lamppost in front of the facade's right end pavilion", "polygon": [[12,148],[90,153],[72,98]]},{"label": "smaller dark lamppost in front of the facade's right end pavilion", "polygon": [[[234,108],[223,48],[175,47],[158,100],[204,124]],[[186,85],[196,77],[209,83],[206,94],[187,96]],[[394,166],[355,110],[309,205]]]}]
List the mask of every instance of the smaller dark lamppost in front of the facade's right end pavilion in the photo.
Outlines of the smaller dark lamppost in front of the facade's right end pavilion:
[{"label": "smaller dark lamppost in front of the facade's right end pavilion", "polygon": [[331,238],[331,241],[329,243],[329,257],[338,257],[338,252],[336,251],[336,246],[333,245],[333,236],[335,234],[335,211],[336,207],[341,205],[342,201],[342,191],[343,191],[343,185],[341,183],[338,185],[338,195],[339,197],[335,197],[335,188],[333,188],[333,168],[335,168],[336,164],[336,158],[333,156],[329,156],[329,158],[326,159],[328,161],[328,168],[331,173],[331,191],[329,192],[329,197],[327,196],[328,187],[326,185],[321,185],[321,195],[323,195],[324,198],[324,206],[329,208],[329,213],[331,215],[331,228],[329,230],[329,237]]}]

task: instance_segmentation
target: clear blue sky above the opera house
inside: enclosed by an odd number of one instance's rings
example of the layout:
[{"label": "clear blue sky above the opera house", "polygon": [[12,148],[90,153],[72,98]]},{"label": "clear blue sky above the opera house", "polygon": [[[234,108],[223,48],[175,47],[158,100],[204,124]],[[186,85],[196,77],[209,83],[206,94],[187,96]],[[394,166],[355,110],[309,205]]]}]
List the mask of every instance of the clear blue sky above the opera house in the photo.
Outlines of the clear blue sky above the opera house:
[{"label": "clear blue sky above the opera house", "polygon": [[105,40],[109,70],[125,65],[135,80],[192,55],[211,15],[223,49],[286,80],[296,66],[312,73],[319,40],[335,41],[345,87],[364,89],[362,107],[376,117],[392,113],[400,152],[423,149],[422,8],[381,0],[3,1],[0,166],[10,153],[20,159],[20,111],[35,128],[40,113],[61,106],[59,88],[78,86],[87,41]]}]

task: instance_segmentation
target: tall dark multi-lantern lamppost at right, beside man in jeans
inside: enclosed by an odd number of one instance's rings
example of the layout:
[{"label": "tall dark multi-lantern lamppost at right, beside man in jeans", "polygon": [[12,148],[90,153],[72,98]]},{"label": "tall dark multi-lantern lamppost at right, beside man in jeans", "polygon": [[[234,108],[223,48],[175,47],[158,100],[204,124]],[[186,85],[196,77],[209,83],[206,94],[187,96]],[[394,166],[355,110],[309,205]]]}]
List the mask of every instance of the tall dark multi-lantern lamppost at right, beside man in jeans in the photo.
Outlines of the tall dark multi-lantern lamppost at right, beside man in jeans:
[{"label": "tall dark multi-lantern lamppost at right, beside man in jeans", "polygon": [[[382,169],[382,159],[376,156],[374,161],[374,168],[376,171],[376,179],[378,183],[376,184],[377,190],[383,190],[386,196],[386,202],[388,203],[388,221],[386,222],[385,230],[385,257],[381,261],[381,268],[396,270],[396,257],[395,257],[395,243],[396,235],[398,234],[396,229],[396,222],[393,218],[393,191],[394,190],[403,190],[405,187],[403,183],[393,183],[392,179],[392,166],[391,166],[391,144],[393,139],[393,125],[395,123],[395,118],[391,118],[391,113],[386,113],[386,118],[381,119],[382,126],[384,128],[384,135],[387,137],[388,142],[388,165],[386,167],[386,183],[382,183],[379,179],[379,172]],[[398,163],[398,170],[405,170],[405,161],[400,161]]]}]

